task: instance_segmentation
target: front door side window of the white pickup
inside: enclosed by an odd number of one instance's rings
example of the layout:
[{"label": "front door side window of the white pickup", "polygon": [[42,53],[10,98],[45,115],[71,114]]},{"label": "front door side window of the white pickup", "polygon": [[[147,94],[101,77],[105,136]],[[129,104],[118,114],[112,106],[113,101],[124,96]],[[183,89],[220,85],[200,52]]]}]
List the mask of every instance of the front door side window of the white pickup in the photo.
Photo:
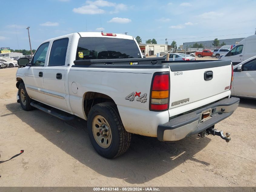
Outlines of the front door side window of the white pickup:
[{"label": "front door side window of the white pickup", "polygon": [[49,42],[40,45],[40,47],[35,52],[33,57],[32,66],[45,66],[45,57],[49,47]]}]

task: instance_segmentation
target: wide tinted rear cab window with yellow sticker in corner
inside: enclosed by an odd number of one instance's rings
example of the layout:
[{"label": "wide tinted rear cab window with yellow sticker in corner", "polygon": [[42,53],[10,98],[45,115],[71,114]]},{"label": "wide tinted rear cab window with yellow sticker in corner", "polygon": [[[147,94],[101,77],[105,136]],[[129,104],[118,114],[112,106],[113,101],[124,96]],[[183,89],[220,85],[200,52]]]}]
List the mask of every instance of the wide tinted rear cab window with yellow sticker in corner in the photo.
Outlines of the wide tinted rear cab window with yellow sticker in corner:
[{"label": "wide tinted rear cab window with yellow sticker in corner", "polygon": [[134,40],[108,37],[81,37],[78,40],[76,60],[141,58]]}]

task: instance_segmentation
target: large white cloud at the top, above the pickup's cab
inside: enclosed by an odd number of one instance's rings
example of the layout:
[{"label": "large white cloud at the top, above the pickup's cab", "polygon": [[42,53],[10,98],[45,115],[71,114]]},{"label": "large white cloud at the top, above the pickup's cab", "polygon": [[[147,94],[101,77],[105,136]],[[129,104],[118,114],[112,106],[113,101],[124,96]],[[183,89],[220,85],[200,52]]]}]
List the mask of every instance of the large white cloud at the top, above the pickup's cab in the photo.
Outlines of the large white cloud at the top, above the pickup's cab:
[{"label": "large white cloud at the top, above the pickup's cab", "polygon": [[[96,0],[96,1],[86,1],[86,4],[78,8],[74,8],[73,12],[80,13],[80,14],[99,14],[99,7],[112,7],[114,10],[109,11],[110,14],[118,13],[120,11],[126,11],[127,5],[122,3],[112,3],[104,0]],[[106,11],[100,9],[100,13],[105,13]]]}]

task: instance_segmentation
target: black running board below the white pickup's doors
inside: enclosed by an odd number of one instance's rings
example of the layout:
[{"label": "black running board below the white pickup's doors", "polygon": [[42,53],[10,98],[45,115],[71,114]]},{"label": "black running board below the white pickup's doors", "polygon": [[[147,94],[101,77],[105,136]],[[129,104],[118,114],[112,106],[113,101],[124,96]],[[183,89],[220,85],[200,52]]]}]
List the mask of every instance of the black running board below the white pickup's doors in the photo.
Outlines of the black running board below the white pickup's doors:
[{"label": "black running board below the white pickup's doors", "polygon": [[[31,102],[30,105],[41,110],[41,111],[44,111],[45,113],[55,116],[58,119],[61,119],[63,121],[70,121],[70,120],[78,119],[78,117],[75,115],[71,115],[69,113],[61,111],[59,109],[52,108],[50,106],[44,105],[43,103],[39,103],[37,101]],[[51,108],[51,109],[47,109],[46,107]]]}]

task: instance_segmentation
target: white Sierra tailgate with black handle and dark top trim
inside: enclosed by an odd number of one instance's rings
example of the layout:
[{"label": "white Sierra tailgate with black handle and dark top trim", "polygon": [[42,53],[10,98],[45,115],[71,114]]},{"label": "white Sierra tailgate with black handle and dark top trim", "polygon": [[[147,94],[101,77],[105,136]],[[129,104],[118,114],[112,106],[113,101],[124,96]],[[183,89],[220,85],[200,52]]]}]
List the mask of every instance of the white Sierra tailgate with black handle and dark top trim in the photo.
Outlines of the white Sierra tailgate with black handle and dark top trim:
[{"label": "white Sierra tailgate with black handle and dark top trim", "polygon": [[[169,66],[171,69],[169,109],[229,91],[231,61],[184,61],[169,63]],[[214,97],[212,99],[209,103],[215,101]]]}]

